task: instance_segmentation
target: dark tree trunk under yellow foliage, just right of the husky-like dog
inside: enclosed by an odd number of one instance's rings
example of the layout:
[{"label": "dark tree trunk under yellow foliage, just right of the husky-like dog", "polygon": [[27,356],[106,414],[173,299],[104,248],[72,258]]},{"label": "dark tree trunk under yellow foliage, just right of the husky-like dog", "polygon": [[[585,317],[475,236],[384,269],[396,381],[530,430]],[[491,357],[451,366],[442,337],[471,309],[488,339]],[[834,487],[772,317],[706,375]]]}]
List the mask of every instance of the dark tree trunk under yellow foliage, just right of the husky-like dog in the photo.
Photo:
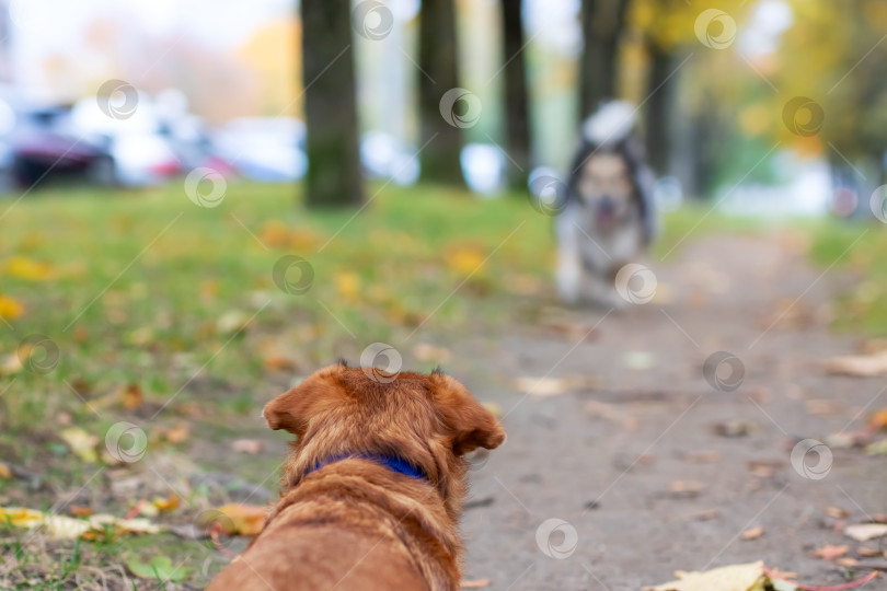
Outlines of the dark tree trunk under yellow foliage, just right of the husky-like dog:
[{"label": "dark tree trunk under yellow foliage, just right of the husky-like dog", "polygon": [[647,84],[646,148],[647,159],[657,175],[668,173],[668,117],[671,74],[671,54],[663,50],[658,44],[647,44],[649,55],[649,82]]}]

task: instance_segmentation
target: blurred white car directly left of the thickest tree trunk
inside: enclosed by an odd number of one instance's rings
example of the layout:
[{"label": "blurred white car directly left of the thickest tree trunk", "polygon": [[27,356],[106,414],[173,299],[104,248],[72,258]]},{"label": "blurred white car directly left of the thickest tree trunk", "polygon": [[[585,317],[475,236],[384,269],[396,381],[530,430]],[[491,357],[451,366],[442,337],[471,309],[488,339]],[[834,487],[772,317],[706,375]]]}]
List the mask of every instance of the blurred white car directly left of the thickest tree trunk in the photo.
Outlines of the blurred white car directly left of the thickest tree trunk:
[{"label": "blurred white car directly left of the thickest tree trunk", "polygon": [[287,183],[304,176],[304,124],[290,117],[232,119],[212,136],[216,154],[253,181]]}]

